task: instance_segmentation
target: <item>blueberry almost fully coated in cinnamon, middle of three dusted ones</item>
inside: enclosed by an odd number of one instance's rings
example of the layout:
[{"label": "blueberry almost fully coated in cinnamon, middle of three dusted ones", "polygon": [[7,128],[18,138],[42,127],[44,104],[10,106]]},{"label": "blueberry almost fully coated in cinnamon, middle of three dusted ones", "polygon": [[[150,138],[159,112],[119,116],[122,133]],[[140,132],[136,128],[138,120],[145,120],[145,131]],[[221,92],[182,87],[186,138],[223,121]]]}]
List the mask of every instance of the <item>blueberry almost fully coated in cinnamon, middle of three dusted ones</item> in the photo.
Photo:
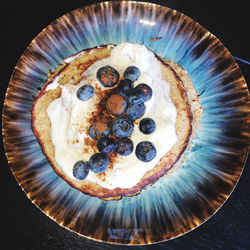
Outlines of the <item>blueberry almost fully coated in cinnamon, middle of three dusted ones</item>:
[{"label": "blueberry almost fully coated in cinnamon, middle of three dusted ones", "polygon": [[106,108],[111,115],[121,115],[127,107],[127,102],[121,95],[114,94],[107,100]]}]

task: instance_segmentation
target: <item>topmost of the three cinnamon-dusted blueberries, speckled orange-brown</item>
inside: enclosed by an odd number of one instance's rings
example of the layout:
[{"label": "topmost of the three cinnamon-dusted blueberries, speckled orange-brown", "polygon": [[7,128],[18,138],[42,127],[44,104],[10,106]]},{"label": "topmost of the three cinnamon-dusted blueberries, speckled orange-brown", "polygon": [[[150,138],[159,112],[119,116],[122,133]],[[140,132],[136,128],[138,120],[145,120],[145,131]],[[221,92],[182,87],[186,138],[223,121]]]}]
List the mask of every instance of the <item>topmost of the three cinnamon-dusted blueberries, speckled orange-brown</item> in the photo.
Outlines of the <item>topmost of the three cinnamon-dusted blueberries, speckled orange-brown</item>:
[{"label": "topmost of the three cinnamon-dusted blueberries, speckled orange-brown", "polygon": [[120,75],[111,66],[104,66],[97,70],[96,78],[104,87],[112,87],[118,83]]}]

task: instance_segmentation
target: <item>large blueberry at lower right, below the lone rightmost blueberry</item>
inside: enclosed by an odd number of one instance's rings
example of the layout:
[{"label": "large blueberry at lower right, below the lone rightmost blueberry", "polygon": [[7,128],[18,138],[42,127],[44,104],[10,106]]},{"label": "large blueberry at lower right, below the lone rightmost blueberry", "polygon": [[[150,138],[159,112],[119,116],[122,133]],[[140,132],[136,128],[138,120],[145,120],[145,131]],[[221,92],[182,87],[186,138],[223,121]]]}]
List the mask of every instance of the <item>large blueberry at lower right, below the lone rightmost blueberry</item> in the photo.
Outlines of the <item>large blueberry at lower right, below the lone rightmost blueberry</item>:
[{"label": "large blueberry at lower right, below the lone rightmost blueberry", "polygon": [[152,142],[140,142],[135,149],[135,155],[140,161],[148,162],[155,158],[156,149]]}]

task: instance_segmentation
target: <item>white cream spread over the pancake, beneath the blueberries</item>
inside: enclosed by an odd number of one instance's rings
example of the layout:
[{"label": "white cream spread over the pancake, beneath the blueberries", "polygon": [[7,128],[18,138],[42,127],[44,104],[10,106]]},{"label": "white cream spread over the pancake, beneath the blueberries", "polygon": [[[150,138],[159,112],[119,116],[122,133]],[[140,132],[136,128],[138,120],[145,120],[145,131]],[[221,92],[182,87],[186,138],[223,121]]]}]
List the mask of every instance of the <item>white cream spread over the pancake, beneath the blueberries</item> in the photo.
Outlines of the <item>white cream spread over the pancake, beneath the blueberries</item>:
[{"label": "white cream spread over the pancake, beneath the blueberries", "polygon": [[[79,84],[60,85],[61,97],[51,102],[47,108],[51,121],[50,133],[55,147],[55,160],[67,176],[75,179],[72,173],[75,162],[88,161],[91,155],[97,152],[94,147],[86,145],[86,140],[92,140],[87,135],[87,131],[90,126],[88,120],[91,118],[91,113],[95,111],[95,105],[100,101],[96,93],[107,90],[96,79],[97,70],[105,65],[115,68],[121,76],[128,66],[133,65],[140,69],[140,77],[134,82],[134,86],[146,83],[152,88],[153,95],[148,102],[145,102],[146,111],[143,117],[152,118],[156,123],[156,130],[152,134],[145,135],[140,132],[139,120],[136,120],[134,132],[131,135],[134,143],[132,154],[118,155],[112,162],[112,167],[109,167],[104,175],[96,175],[89,171],[86,180],[109,189],[131,188],[160,161],[177,141],[175,132],[177,113],[170,98],[170,85],[162,79],[159,60],[144,45],[119,44],[113,48],[110,57],[92,64],[84,72],[84,80]],[[48,85],[46,90],[54,89],[58,79],[55,81],[56,83],[52,81],[51,87]],[[87,101],[81,101],[76,96],[78,88],[84,84],[92,84],[95,88],[94,96]],[[156,148],[156,157],[150,162],[142,162],[135,155],[136,145],[141,141],[150,141]]]}]

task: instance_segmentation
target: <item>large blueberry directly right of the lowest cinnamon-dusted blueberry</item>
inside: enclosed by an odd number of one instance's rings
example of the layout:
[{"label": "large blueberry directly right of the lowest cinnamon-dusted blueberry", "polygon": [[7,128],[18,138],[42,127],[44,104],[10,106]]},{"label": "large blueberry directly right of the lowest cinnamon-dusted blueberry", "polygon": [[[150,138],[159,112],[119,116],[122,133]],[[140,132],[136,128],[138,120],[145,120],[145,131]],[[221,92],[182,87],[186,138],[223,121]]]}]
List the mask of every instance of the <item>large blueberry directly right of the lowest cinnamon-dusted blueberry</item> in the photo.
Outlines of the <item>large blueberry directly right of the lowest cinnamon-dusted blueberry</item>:
[{"label": "large blueberry directly right of the lowest cinnamon-dusted blueberry", "polygon": [[127,116],[120,116],[113,121],[112,130],[116,137],[128,137],[134,131],[134,124]]}]

